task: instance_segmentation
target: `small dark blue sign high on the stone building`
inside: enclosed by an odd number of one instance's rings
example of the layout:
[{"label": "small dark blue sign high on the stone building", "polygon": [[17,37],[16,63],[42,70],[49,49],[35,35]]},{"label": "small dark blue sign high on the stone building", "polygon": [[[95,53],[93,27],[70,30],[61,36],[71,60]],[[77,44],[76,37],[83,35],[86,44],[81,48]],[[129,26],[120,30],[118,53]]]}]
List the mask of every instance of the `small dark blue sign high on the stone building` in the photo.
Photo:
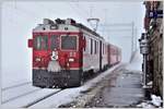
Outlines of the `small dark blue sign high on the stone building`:
[{"label": "small dark blue sign high on the stone building", "polygon": [[163,10],[150,11],[149,19],[163,19]]}]

